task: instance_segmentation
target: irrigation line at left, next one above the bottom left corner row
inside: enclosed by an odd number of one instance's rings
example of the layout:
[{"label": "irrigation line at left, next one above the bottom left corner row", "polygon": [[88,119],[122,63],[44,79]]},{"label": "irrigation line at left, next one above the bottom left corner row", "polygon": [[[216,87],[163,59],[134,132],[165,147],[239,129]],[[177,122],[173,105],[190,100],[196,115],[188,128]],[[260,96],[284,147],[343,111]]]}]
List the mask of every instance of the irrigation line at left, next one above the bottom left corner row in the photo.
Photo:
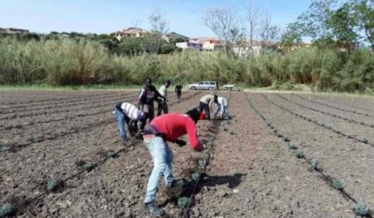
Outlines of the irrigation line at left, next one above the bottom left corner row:
[{"label": "irrigation line at left, next one above the bottom left corner row", "polygon": [[[195,95],[197,95],[199,93],[200,92],[193,93],[190,96],[186,97],[184,100],[187,100],[191,97],[194,97]],[[174,101],[174,102],[170,103],[170,106],[173,106],[176,103],[179,103],[179,101]],[[70,129],[70,131],[68,131],[68,132],[54,133],[53,136],[31,139],[30,142],[23,143],[23,144],[17,144],[17,143],[9,143],[9,144],[3,144],[3,145],[0,144],[0,151],[18,152],[21,149],[23,149],[23,148],[25,148],[29,145],[32,145],[34,143],[39,143],[39,142],[43,142],[43,141],[46,141],[46,140],[57,140],[57,139],[66,137],[68,135],[72,135],[72,134],[79,133],[79,132],[85,131],[87,129],[90,129],[91,125],[94,125],[96,127],[96,126],[101,126],[101,125],[108,125],[108,124],[114,123],[116,121],[114,118],[109,118],[109,119],[111,119],[111,120],[110,121],[105,120],[105,121],[102,121],[102,122],[99,122],[99,123],[85,125],[85,127],[71,128],[72,130]]]}]

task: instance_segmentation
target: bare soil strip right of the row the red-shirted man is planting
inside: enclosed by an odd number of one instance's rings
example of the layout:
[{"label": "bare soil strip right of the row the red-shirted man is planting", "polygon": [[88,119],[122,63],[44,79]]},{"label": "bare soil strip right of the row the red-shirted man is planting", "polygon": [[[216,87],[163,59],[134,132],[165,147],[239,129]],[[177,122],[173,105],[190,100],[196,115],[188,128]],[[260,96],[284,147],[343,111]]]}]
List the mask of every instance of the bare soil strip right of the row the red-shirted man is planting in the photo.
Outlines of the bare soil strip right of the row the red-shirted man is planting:
[{"label": "bare soil strip right of the row the red-shirted man is planting", "polygon": [[245,93],[234,93],[231,101],[238,122],[219,133],[192,210],[201,217],[352,217],[353,205],[269,132]]}]

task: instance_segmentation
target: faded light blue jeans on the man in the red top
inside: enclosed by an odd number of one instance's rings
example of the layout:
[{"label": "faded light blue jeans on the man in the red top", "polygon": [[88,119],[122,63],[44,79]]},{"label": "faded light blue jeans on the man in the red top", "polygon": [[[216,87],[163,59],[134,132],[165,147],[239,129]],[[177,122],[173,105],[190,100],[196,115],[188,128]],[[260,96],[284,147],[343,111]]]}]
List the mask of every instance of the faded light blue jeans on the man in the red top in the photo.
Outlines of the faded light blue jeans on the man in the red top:
[{"label": "faded light blue jeans on the man in the red top", "polygon": [[158,180],[161,175],[164,175],[166,186],[171,186],[173,182],[173,152],[161,137],[144,139],[144,142],[153,158],[153,171],[148,181],[147,193],[144,199],[144,203],[149,203],[156,199]]}]

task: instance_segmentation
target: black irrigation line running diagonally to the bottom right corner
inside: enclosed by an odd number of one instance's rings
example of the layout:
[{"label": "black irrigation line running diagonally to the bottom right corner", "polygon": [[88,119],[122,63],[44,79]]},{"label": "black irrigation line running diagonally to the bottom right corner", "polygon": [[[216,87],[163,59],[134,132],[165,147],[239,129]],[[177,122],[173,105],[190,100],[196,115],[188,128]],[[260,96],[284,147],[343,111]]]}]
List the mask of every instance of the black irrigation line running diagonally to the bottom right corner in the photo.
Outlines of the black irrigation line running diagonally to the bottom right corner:
[{"label": "black irrigation line running diagonally to the bottom right corner", "polygon": [[[262,93],[261,93],[262,94]],[[274,131],[274,129],[278,129],[278,128],[275,128],[274,125],[272,125],[272,123],[270,123],[269,119],[267,119],[261,112],[260,110],[258,110],[255,105],[249,100],[249,97],[248,95],[246,95],[246,98],[247,98],[247,101],[248,101],[248,105],[250,106],[250,108],[252,108],[255,113],[257,114],[257,116],[261,117],[261,119],[264,121],[264,123],[266,124],[266,126],[268,126],[268,128],[270,128],[270,130],[274,133],[274,135],[276,135],[278,138],[281,138],[282,140],[284,141],[290,141],[290,139],[288,137],[286,137],[285,135],[283,134],[279,134],[278,131]],[[306,158],[305,156],[301,157],[301,159],[304,159],[306,160],[307,163],[311,164],[311,161],[310,161],[310,158]],[[317,171],[318,173],[320,173],[323,178],[328,181],[330,183],[330,186],[332,186],[331,184],[333,184],[333,180],[332,180],[332,177],[331,176],[328,176],[326,175],[325,173],[323,173],[322,169],[321,168],[317,168],[315,169],[315,171]],[[347,197],[349,200],[351,200],[352,202],[356,203],[357,204],[357,200],[352,197],[351,194],[349,194],[348,192],[346,192],[344,189],[336,189],[338,191],[340,191],[340,193]]]}]

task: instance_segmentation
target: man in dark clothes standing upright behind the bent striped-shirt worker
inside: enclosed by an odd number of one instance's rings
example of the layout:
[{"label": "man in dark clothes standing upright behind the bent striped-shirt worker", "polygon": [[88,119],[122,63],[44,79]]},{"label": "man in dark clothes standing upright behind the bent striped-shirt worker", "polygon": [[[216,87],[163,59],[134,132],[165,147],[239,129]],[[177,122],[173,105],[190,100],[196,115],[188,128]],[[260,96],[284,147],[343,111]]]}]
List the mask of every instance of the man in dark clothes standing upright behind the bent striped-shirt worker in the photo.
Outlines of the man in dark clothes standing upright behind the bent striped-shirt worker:
[{"label": "man in dark clothes standing upright behind the bent striped-shirt worker", "polygon": [[147,78],[145,82],[144,88],[140,90],[139,100],[137,102],[137,108],[141,109],[144,113],[144,122],[142,122],[140,126],[140,131],[144,129],[146,125],[147,119],[149,122],[154,118],[154,104],[153,101],[157,101],[158,97],[165,100],[164,96],[162,96],[157,89],[152,85],[151,78]]}]

